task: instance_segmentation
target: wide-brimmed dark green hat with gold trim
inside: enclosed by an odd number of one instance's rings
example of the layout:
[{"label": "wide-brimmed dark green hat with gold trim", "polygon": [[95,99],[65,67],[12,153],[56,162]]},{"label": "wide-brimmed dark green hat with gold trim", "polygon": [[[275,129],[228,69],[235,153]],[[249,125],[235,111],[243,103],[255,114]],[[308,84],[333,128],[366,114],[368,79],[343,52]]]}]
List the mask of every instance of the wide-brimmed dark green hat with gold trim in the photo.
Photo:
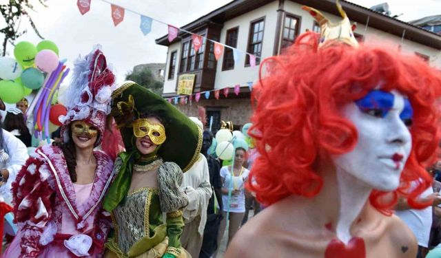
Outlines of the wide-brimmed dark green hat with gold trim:
[{"label": "wide-brimmed dark green hat with gold trim", "polygon": [[185,114],[150,89],[127,81],[112,94],[112,111],[127,152],[136,146],[133,122],[143,114],[158,116],[167,139],[157,155],[165,162],[175,162],[185,172],[198,159],[202,147],[202,130]]}]

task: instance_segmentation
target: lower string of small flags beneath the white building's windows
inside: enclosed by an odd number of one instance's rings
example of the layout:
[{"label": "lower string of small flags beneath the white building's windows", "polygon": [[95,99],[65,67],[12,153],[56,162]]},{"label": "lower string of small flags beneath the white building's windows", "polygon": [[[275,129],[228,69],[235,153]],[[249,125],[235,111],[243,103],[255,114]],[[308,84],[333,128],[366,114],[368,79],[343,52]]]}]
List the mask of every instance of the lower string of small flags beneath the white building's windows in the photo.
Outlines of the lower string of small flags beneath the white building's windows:
[{"label": "lower string of small flags beneath the white building's windows", "polygon": [[[249,89],[249,92],[252,92],[253,82],[249,81],[246,84],[247,84],[246,86]],[[196,103],[198,103],[199,100],[201,100],[201,96],[204,96],[205,99],[209,99],[209,96],[212,94],[212,92],[213,92],[214,98],[216,98],[216,100],[219,99],[221,93],[223,94],[223,96],[225,96],[225,98],[227,98],[229,95],[230,89],[233,89],[234,94],[236,94],[236,96],[238,96],[240,93],[240,87],[241,87],[240,84],[236,84],[236,85],[234,85],[233,88],[225,87],[223,89],[211,89],[211,90],[205,91],[205,92],[196,92],[195,94],[191,94],[191,95],[182,95],[182,96],[176,96],[173,98],[165,98],[165,99],[169,103],[172,103],[174,105],[177,105],[178,103],[181,105],[185,105],[187,103],[190,103],[190,105],[191,105],[193,100],[195,100]]]}]

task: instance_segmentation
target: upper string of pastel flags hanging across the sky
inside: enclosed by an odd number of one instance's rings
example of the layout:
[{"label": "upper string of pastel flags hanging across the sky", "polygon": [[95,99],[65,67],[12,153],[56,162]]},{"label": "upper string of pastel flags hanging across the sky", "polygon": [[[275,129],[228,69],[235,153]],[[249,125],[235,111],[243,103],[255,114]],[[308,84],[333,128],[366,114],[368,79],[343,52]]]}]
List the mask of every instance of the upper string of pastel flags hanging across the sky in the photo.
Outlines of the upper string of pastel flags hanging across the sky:
[{"label": "upper string of pastel flags hanging across the sky", "polygon": [[[214,56],[216,58],[216,61],[218,61],[220,56],[222,56],[225,47],[232,49],[234,62],[236,62],[236,63],[240,60],[240,58],[242,56],[248,55],[250,67],[255,67],[256,66],[256,58],[260,58],[260,56],[256,56],[253,53],[248,53],[246,51],[239,50],[236,47],[230,47],[229,45],[225,45],[225,44],[220,43],[218,41],[208,39],[206,36],[202,36],[202,35],[199,35],[199,34],[196,34],[193,32],[189,32],[189,31],[183,30],[181,28],[177,28],[176,26],[170,25],[169,23],[165,23],[163,21],[153,19],[152,17],[148,17],[148,16],[141,14],[139,12],[136,12],[134,10],[130,10],[127,8],[123,8],[121,6],[117,6],[114,3],[111,3],[110,1],[107,1],[107,0],[99,0],[99,1],[103,1],[105,3],[110,4],[112,21],[115,26],[119,25],[119,23],[121,23],[124,20],[125,11],[132,12],[133,14],[138,14],[141,17],[141,23],[140,23],[139,27],[141,29],[141,32],[143,32],[144,35],[147,35],[150,33],[150,31],[152,30],[152,23],[153,23],[153,21],[156,21],[157,23],[162,23],[162,24],[167,25],[167,27],[168,27],[167,39],[170,42],[172,42],[172,41],[174,41],[174,39],[176,39],[176,37],[178,36],[178,32],[180,32],[180,31],[185,32],[187,34],[191,34],[192,35],[192,46],[193,46],[195,52],[198,52],[198,50],[203,45],[204,41],[205,42],[211,41],[212,43],[214,43]],[[92,0],[77,0],[76,1],[76,6],[78,6],[79,11],[82,15],[89,12],[91,2],[92,2]]]}]

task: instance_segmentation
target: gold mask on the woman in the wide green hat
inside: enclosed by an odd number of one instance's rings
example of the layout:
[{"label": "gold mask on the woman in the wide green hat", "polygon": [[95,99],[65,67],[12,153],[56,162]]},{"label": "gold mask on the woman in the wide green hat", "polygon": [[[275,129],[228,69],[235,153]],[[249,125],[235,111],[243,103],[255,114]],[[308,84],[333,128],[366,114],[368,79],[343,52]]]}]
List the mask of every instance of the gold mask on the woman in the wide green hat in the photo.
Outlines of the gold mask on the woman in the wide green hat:
[{"label": "gold mask on the woman in the wide green hat", "polygon": [[166,139],[163,125],[153,124],[147,118],[139,118],[133,122],[133,134],[136,138],[149,136],[156,145],[163,144]]}]

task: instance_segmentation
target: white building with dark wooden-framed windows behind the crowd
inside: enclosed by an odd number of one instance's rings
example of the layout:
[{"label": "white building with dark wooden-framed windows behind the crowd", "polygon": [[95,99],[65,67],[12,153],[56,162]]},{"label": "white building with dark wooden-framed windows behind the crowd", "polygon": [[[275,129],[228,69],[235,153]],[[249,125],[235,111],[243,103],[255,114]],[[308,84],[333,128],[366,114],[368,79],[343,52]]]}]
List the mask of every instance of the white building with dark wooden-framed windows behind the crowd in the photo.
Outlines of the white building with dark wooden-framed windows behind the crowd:
[{"label": "white building with dark wooden-framed windows behind the crowd", "polygon": [[[351,22],[358,23],[354,33],[359,41],[388,41],[441,69],[441,35],[348,1],[340,3]],[[177,104],[181,111],[188,116],[197,116],[197,106],[205,107],[207,118],[212,117],[214,131],[220,120],[232,121],[235,129],[249,122],[252,114],[249,82],[258,80],[260,61],[280,54],[283,47],[291,45],[299,34],[319,30],[311,15],[302,10],[303,5],[320,10],[331,21],[341,19],[334,0],[236,0],[182,27],[255,54],[258,56],[256,67],[250,65],[249,56],[245,54],[235,62],[233,51],[227,47],[216,61],[214,43],[210,41],[194,52],[192,36],[184,32],[172,42],[167,40],[167,35],[156,39],[157,44],[168,47],[163,97],[177,96],[179,76],[195,74],[194,94],[225,87],[230,88],[229,94],[225,97],[221,90],[218,100],[214,98],[214,92],[208,99],[202,94],[198,103],[192,96],[192,101],[187,99],[187,104]],[[233,93],[235,85],[240,85],[237,95]]]}]

